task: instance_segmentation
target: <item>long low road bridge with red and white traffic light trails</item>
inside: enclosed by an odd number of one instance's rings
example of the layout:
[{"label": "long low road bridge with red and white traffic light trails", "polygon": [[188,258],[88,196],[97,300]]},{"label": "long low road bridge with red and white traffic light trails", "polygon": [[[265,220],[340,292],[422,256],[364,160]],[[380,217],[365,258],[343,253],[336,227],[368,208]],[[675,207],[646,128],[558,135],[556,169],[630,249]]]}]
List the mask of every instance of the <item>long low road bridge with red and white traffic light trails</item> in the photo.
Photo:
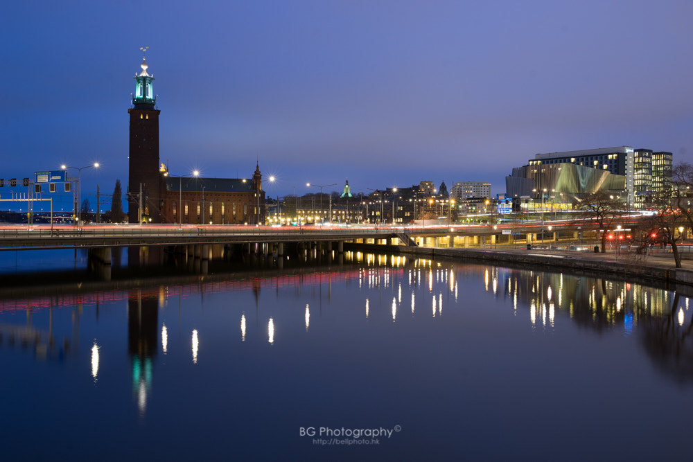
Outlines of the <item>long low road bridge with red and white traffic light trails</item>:
[{"label": "long low road bridge with red and white traffic light trails", "polygon": [[[593,224],[591,224],[593,226]],[[459,238],[520,236],[588,229],[584,220],[526,222],[523,224],[453,224],[448,226],[337,225],[243,226],[243,225],[0,225],[0,251],[138,247],[152,245],[212,245],[229,243],[347,241],[427,245],[446,238],[446,247],[462,244]],[[509,238],[508,238],[509,239]],[[383,242],[389,240],[390,242]]]}]

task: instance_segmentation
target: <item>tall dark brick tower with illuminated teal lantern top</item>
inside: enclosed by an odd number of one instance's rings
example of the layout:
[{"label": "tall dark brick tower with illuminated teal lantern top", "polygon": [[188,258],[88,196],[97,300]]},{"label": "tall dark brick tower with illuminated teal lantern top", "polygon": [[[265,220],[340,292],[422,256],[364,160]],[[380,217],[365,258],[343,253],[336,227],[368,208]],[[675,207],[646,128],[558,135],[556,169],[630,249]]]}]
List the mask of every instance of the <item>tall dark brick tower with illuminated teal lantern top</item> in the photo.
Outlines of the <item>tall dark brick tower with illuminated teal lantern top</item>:
[{"label": "tall dark brick tower with illuminated teal lantern top", "polygon": [[[161,222],[161,174],[159,173],[159,113],[155,109],[154,77],[142,71],[135,75],[130,114],[130,174],[128,177],[128,219],[137,223],[139,217],[152,223]],[[139,197],[140,190],[142,197]],[[140,211],[139,205],[142,205]]]}]

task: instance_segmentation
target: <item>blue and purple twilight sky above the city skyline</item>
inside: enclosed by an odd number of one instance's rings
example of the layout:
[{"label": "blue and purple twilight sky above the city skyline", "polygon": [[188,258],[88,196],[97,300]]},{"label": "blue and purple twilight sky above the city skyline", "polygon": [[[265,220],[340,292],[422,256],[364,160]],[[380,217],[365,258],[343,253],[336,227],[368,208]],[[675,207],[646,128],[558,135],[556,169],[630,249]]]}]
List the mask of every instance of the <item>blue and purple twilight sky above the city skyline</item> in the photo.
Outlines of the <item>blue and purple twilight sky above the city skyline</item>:
[{"label": "blue and purple twilight sky above the city skyline", "polygon": [[618,145],[691,161],[692,17],[683,0],[4,1],[0,178],[98,161],[90,202],[125,190],[141,46],[171,173],[257,159],[272,196],[346,178],[502,193],[537,152]]}]

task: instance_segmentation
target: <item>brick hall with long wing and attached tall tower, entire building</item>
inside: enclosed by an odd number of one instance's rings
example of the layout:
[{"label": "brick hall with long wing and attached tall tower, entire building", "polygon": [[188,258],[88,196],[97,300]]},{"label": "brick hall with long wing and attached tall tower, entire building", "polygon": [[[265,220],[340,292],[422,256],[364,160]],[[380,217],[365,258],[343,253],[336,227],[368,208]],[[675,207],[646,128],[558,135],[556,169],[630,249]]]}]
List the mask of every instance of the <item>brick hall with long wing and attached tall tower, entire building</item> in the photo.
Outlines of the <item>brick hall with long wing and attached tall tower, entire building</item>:
[{"label": "brick hall with long wing and attached tall tower, entire building", "polygon": [[[128,218],[151,223],[236,224],[264,221],[265,192],[256,166],[252,179],[169,175],[159,162],[159,109],[143,60],[130,113]],[[183,178],[186,177],[186,178]]]}]

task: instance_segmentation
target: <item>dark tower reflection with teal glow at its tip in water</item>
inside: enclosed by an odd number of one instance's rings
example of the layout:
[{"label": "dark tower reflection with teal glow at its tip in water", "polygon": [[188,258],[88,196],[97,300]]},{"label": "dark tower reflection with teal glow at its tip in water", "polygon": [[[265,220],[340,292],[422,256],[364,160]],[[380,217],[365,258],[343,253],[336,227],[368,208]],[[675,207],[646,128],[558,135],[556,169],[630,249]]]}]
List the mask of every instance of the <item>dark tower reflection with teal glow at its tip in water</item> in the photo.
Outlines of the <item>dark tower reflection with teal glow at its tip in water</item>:
[{"label": "dark tower reflection with teal glow at its tip in water", "polygon": [[152,358],[157,353],[158,300],[139,290],[128,296],[128,353],[132,357],[132,392],[143,415],[152,388]]}]

